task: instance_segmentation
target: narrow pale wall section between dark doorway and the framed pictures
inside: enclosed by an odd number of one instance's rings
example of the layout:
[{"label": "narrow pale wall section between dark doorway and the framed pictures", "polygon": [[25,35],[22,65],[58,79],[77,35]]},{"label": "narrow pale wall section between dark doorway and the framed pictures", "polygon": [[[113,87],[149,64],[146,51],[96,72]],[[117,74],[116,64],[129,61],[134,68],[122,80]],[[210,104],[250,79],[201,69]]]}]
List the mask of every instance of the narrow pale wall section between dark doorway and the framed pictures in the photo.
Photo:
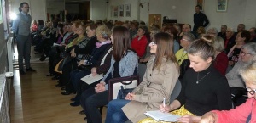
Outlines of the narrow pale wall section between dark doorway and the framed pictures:
[{"label": "narrow pale wall section between dark doorway and the framed pictures", "polygon": [[108,14],[105,0],[90,0],[90,20],[105,20]]}]

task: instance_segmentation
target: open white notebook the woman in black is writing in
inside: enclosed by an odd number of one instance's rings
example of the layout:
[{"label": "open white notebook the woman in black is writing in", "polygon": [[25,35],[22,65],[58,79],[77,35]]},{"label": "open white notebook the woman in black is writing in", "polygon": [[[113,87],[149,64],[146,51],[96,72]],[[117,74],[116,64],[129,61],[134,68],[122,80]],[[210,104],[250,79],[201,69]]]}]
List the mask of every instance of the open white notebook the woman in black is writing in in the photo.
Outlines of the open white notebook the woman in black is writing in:
[{"label": "open white notebook the woman in black is writing in", "polygon": [[155,110],[155,111],[147,111],[144,113],[145,115],[148,115],[148,117],[153,118],[154,120],[157,121],[167,121],[167,122],[176,122],[177,118],[180,118],[180,115],[172,115],[170,113],[163,113],[160,112],[160,110]]}]

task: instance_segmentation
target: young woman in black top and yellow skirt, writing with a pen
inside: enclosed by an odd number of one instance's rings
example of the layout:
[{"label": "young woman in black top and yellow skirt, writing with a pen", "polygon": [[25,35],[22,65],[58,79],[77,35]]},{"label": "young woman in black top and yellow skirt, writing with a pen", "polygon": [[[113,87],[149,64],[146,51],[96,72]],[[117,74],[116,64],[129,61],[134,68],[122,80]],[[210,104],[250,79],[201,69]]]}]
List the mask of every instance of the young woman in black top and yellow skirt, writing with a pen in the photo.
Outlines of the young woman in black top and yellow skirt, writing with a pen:
[{"label": "young woman in black top and yellow skirt, writing with a pen", "polygon": [[[197,40],[188,48],[191,69],[182,81],[179,96],[170,105],[160,105],[160,111],[182,115],[179,122],[198,122],[212,109],[231,109],[230,88],[226,78],[213,67],[214,48],[209,42]],[[175,110],[177,109],[177,110]],[[157,122],[151,118],[139,123]]]}]

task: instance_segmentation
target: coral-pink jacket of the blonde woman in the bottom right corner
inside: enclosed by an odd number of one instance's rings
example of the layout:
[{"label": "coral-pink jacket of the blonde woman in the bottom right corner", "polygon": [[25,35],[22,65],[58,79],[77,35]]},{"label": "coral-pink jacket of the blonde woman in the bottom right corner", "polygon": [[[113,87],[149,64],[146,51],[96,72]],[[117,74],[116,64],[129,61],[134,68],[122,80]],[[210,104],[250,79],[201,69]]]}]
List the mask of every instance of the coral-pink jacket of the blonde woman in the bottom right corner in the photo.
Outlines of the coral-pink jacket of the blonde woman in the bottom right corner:
[{"label": "coral-pink jacket of the blonde woman in the bottom right corner", "polygon": [[252,117],[249,123],[256,122],[256,103],[255,98],[248,98],[246,103],[236,107],[236,109],[230,109],[229,111],[217,111],[212,112],[218,115],[218,123],[245,123],[247,117],[252,113]]}]

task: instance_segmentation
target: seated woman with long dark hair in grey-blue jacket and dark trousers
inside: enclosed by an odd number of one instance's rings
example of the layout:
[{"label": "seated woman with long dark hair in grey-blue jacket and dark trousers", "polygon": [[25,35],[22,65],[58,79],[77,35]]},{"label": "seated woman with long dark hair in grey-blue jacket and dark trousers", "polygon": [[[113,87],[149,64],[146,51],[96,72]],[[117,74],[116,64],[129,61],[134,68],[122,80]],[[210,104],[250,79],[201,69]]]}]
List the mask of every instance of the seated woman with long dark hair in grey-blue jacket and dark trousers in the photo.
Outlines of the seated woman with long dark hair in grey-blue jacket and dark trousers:
[{"label": "seated woman with long dark hair in grey-blue jacket and dark trousers", "polygon": [[97,109],[108,104],[108,80],[137,74],[137,53],[131,50],[131,38],[127,28],[113,28],[113,56],[110,69],[96,87],[90,87],[81,95],[81,105],[87,122],[102,122],[102,115]]}]

